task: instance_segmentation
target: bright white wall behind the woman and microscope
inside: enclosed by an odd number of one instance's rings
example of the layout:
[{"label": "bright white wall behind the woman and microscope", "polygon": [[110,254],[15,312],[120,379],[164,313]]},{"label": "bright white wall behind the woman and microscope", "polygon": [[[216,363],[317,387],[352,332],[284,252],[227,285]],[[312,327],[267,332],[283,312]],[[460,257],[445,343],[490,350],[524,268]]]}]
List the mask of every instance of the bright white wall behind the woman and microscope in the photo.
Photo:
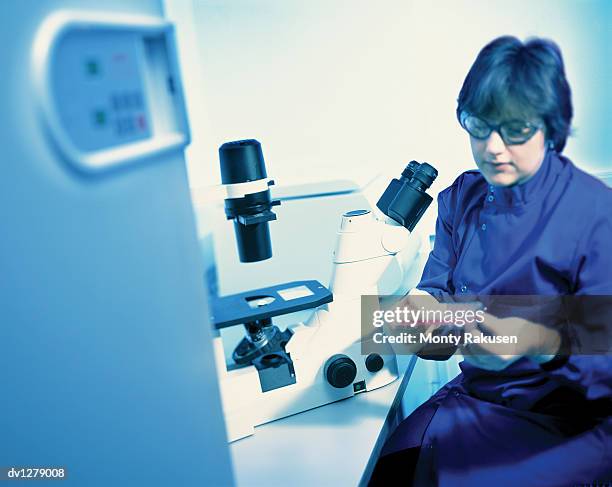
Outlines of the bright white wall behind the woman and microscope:
[{"label": "bright white wall behind the woman and microscope", "polygon": [[566,149],[612,167],[612,2],[605,0],[166,0],[177,22],[193,187],[219,182],[217,149],[254,137],[281,183],[473,166],[455,120],[478,51],[502,34],[550,37],[565,56],[576,136]]}]

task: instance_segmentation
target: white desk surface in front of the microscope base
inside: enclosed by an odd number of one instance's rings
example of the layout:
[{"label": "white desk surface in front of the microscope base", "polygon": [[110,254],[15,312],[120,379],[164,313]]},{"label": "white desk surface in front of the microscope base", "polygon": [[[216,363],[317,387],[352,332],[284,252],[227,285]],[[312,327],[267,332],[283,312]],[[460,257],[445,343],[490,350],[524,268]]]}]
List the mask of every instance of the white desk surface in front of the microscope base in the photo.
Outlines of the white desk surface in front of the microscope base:
[{"label": "white desk surface in front of the microscope base", "polygon": [[230,445],[238,487],[354,487],[367,477],[401,419],[407,373],[380,389],[255,428]]}]

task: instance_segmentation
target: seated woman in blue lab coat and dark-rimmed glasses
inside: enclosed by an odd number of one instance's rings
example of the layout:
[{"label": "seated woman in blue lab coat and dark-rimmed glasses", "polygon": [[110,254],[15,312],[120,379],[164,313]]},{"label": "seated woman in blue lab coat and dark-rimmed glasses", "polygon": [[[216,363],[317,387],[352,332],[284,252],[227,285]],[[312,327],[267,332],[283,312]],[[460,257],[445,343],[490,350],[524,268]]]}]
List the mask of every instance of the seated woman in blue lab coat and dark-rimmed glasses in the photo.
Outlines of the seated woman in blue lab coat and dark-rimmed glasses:
[{"label": "seated woman in blue lab coat and dark-rimmed glasses", "polygon": [[[561,155],[572,103],[557,45],[493,40],[465,79],[457,116],[479,170],[439,194],[418,292],[612,295],[612,190]],[[504,325],[488,316],[478,332],[502,335]],[[612,360],[572,354],[565,331],[543,329],[512,354],[460,346],[462,373],[399,425],[370,484],[612,482]]]}]

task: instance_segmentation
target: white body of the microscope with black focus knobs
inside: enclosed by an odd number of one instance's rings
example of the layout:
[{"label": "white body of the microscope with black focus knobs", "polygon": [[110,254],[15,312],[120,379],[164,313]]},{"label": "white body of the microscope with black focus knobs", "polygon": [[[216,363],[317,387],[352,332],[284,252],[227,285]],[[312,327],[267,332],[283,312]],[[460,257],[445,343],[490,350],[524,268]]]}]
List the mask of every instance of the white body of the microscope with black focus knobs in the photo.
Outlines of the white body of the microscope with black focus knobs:
[{"label": "white body of the microscope with black focus knobs", "polygon": [[295,384],[262,392],[256,368],[228,371],[220,334],[214,339],[229,441],[253,434],[257,425],[397,379],[391,348],[388,355],[364,356],[360,342],[361,296],[377,295],[381,279],[386,280],[385,289],[400,288],[400,259],[412,260],[420,248],[420,239],[388,220],[376,218],[369,210],[342,216],[329,286],[334,300],[317,308],[306,323],[289,327],[293,335],[285,350],[293,360]]}]

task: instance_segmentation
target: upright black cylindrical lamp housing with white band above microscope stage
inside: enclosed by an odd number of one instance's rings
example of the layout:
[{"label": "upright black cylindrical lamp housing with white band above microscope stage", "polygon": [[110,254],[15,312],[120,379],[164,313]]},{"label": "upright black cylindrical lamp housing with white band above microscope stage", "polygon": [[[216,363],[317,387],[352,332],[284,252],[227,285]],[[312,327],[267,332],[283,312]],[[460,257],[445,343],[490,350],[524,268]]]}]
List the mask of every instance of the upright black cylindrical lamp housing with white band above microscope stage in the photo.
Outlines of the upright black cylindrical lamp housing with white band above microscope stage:
[{"label": "upright black cylindrical lamp housing with white band above microscope stage", "polygon": [[241,262],[258,262],[272,257],[268,223],[276,220],[261,144],[254,140],[226,142],[219,147],[221,182],[226,187],[225,215],[234,220]]}]

